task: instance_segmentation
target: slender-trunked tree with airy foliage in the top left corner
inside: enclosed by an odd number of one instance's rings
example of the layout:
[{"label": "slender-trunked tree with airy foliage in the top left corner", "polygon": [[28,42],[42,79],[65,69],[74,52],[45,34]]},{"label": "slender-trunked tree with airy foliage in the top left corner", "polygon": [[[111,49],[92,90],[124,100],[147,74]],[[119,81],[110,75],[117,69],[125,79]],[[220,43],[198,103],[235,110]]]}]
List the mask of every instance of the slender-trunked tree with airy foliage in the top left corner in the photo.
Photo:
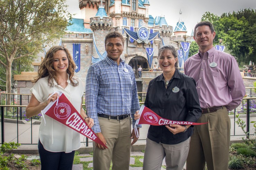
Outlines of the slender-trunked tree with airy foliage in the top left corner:
[{"label": "slender-trunked tree with airy foliage in the top left corner", "polygon": [[[11,92],[13,61],[31,57],[60,38],[71,19],[66,0],[0,0],[0,63]],[[16,62],[18,64],[18,61]]]}]

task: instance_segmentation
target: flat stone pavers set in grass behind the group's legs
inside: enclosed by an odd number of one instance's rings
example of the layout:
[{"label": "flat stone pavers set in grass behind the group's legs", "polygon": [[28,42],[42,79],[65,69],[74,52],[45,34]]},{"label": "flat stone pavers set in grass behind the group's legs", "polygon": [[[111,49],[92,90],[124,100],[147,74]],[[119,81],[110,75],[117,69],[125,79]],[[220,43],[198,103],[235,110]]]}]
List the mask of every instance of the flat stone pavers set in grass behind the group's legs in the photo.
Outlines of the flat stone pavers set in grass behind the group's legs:
[{"label": "flat stone pavers set in grass behind the group's legs", "polygon": [[[83,153],[79,154],[78,156],[85,157],[88,156],[87,158],[80,158],[81,162],[89,162],[93,161],[93,158],[91,157],[91,154],[88,153]],[[131,152],[131,156],[144,156],[143,152]],[[143,162],[143,159],[139,159],[140,162]],[[131,157],[130,158],[130,164],[135,164],[135,158]],[[165,159],[163,160],[162,163],[163,166],[166,166],[165,164]],[[89,163],[87,168],[93,168],[93,163]],[[186,164],[184,165],[183,170],[185,170]],[[83,164],[73,164],[73,169],[72,170],[83,170]],[[130,167],[129,170],[142,170],[142,167]],[[165,170],[165,168],[161,168],[161,170]]]}]

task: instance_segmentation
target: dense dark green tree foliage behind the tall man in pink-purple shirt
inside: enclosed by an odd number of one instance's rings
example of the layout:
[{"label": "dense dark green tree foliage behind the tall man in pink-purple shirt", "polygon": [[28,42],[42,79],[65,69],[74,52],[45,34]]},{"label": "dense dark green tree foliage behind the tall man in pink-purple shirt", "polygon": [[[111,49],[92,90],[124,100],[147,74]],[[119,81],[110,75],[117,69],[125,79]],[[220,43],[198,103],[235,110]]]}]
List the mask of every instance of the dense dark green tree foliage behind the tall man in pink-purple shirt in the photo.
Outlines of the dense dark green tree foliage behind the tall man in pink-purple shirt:
[{"label": "dense dark green tree foliage behind the tall man in pink-purple shirt", "polygon": [[225,51],[238,58],[238,63],[255,62],[256,56],[256,10],[243,9],[232,13],[223,13],[220,17],[205,12],[201,21],[210,21],[216,31],[213,44],[226,46]]}]

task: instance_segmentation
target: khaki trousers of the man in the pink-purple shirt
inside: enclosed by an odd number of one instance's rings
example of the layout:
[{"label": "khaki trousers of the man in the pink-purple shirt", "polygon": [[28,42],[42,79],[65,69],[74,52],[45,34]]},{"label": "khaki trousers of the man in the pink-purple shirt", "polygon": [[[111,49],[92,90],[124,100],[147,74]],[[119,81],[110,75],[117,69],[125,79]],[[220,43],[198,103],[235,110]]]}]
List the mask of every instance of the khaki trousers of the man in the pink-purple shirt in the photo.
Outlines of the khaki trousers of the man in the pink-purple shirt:
[{"label": "khaki trousers of the man in the pink-purple shirt", "polygon": [[230,146],[230,118],[226,107],[216,112],[204,113],[194,126],[186,170],[228,170]]}]

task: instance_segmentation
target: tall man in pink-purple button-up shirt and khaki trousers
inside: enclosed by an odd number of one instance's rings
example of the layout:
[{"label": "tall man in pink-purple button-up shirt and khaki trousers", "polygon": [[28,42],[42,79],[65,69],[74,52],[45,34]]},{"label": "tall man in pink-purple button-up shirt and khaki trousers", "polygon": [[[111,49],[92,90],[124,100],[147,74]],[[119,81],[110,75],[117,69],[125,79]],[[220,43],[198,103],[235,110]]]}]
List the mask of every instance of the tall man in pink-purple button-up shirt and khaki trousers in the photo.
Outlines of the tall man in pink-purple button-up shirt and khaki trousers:
[{"label": "tall man in pink-purple button-up shirt and khaki trousers", "polygon": [[213,47],[213,26],[208,21],[194,28],[199,52],[184,65],[186,75],[196,81],[202,116],[194,126],[186,170],[227,170],[230,146],[230,118],[245,96],[245,86],[236,59]]}]

